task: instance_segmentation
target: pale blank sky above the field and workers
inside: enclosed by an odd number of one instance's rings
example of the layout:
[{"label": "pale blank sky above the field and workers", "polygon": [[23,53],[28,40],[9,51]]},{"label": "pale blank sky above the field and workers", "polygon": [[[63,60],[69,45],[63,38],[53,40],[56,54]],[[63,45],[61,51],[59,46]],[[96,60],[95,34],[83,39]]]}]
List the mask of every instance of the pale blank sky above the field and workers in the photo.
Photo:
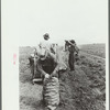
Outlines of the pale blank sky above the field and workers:
[{"label": "pale blank sky above the field and workers", "polygon": [[72,38],[77,44],[106,43],[108,0],[4,1],[8,30],[13,30],[20,46],[37,45],[45,33],[59,44]]}]

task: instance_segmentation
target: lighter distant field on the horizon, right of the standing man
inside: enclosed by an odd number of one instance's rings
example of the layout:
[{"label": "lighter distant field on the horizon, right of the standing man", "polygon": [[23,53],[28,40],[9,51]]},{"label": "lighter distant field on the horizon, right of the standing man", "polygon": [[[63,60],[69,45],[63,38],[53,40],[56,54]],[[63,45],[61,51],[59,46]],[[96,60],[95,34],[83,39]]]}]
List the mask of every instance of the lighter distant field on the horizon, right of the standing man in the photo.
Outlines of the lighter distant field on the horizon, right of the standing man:
[{"label": "lighter distant field on the horizon, right of the standing man", "polygon": [[106,44],[87,44],[80,45],[80,50],[91,55],[106,58]]}]

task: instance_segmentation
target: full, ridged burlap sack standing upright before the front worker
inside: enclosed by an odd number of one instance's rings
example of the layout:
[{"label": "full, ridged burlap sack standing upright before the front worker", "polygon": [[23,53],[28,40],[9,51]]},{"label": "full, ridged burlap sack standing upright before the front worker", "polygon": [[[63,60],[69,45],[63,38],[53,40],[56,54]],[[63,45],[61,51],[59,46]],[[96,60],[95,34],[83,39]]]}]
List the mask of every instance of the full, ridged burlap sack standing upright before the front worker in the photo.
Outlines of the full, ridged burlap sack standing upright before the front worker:
[{"label": "full, ridged burlap sack standing upright before the front worker", "polygon": [[45,107],[48,107],[51,110],[56,109],[59,103],[58,78],[52,77],[50,79],[44,79],[43,100],[45,102]]}]

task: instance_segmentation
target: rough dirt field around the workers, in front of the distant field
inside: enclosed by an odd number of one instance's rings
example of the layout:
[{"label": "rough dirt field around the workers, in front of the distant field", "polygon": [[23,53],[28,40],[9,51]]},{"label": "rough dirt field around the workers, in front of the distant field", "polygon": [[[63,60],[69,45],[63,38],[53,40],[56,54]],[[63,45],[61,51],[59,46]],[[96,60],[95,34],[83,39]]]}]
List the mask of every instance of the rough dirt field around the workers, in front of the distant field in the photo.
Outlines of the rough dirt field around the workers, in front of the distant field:
[{"label": "rough dirt field around the workers, in front of the distant field", "polygon": [[[32,85],[31,81],[28,57],[32,50],[20,47],[20,110],[44,110],[42,84]],[[62,55],[67,57],[63,51]],[[59,75],[61,105],[57,110],[106,110],[105,58],[81,50],[75,67],[75,72],[67,69]]]}]

